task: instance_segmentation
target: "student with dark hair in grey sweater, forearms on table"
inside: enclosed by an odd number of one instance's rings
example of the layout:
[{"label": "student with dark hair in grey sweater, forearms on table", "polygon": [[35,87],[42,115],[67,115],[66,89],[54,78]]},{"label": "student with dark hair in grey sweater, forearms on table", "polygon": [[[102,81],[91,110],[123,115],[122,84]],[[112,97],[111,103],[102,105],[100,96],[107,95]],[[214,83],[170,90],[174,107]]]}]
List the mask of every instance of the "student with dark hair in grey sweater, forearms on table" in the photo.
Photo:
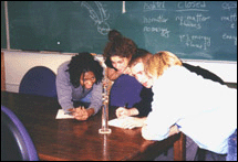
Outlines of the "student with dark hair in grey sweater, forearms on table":
[{"label": "student with dark hair in grey sweater, forearms on table", "polygon": [[[102,106],[103,67],[87,52],[72,56],[58,68],[58,100],[65,112],[86,120]],[[85,109],[85,108],[86,109]]]}]

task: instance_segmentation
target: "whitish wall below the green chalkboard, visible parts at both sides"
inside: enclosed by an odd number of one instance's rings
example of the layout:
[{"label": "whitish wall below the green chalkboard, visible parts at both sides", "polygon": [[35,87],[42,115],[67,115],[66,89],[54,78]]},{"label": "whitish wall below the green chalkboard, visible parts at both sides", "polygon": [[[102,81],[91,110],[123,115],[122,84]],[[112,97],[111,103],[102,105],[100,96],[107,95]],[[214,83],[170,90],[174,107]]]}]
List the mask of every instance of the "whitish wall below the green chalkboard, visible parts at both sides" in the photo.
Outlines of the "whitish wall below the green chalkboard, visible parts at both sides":
[{"label": "whitish wall below the green chalkboard, visible parts at both sides", "polygon": [[[19,91],[19,85],[23,75],[34,66],[45,66],[56,74],[60,64],[71,60],[74,54],[59,53],[34,53],[34,52],[4,52],[6,65],[6,90]],[[102,55],[99,57],[102,58]],[[215,61],[189,61],[184,62],[199,65],[217,74],[226,83],[237,83],[237,62],[215,62]]]}]

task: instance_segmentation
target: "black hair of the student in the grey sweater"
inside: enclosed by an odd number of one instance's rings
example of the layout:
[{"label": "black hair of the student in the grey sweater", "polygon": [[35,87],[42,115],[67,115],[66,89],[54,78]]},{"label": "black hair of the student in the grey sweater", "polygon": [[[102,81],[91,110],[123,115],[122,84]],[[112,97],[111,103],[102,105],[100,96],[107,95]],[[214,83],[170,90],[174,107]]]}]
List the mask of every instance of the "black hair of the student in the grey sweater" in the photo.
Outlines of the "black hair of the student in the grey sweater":
[{"label": "black hair of the student in the grey sweater", "polygon": [[93,72],[96,78],[95,84],[99,84],[103,79],[103,67],[100,62],[94,60],[94,56],[89,52],[79,53],[72,56],[69,68],[70,82],[76,88],[80,86],[80,77],[86,72]]}]

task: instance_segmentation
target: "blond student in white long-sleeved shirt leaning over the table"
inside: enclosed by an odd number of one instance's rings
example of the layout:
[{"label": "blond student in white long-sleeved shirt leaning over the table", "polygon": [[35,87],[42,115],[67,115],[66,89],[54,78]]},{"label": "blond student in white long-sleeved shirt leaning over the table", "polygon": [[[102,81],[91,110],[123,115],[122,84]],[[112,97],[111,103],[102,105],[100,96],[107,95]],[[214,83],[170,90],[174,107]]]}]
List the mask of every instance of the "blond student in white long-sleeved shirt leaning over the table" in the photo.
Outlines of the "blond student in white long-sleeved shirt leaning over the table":
[{"label": "blond student in white long-sleeved shirt leaning over the table", "polygon": [[143,138],[164,140],[176,125],[209,155],[226,160],[228,138],[237,129],[237,89],[190,73],[169,52],[151,57],[145,71],[154,97]]}]

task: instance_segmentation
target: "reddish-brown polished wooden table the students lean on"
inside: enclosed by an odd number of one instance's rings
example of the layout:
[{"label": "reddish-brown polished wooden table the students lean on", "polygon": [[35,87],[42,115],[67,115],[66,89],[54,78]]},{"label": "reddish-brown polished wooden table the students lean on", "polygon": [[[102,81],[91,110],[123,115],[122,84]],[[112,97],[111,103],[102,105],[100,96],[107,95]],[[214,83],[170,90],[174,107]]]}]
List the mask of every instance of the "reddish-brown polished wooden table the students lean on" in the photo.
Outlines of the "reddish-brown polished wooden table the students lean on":
[{"label": "reddish-brown polished wooden table the students lean on", "polygon": [[[144,140],[141,128],[111,127],[111,134],[100,134],[101,111],[86,121],[55,119],[60,105],[50,97],[1,91],[1,105],[10,108],[29,131],[40,160],[121,161],[154,160],[174,144],[174,160],[185,160],[183,134],[163,141]],[[110,109],[110,119],[115,118]]]}]

